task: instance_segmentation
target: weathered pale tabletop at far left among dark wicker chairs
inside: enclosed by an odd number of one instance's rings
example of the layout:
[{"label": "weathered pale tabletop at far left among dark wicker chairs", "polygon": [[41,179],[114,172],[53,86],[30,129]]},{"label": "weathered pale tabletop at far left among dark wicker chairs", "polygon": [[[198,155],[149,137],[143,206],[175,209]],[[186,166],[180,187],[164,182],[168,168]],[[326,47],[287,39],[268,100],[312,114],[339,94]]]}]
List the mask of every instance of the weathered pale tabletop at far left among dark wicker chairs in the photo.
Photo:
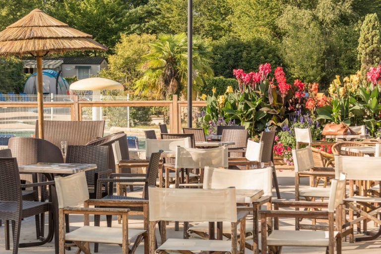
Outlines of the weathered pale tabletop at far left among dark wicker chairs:
[{"label": "weathered pale tabletop at far left among dark wicker chairs", "polygon": [[36,163],[20,165],[20,173],[47,173],[47,174],[75,174],[82,171],[96,169],[96,164],[71,164],[71,163]]}]

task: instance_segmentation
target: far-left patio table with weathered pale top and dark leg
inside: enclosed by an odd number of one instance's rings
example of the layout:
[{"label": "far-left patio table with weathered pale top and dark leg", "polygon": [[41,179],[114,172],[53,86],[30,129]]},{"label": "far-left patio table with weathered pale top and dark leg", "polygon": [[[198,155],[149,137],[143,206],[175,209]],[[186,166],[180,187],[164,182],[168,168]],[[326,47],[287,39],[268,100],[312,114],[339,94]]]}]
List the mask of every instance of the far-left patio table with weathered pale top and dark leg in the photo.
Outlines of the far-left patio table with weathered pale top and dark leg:
[{"label": "far-left patio table with weathered pale top and dark leg", "polygon": [[[46,176],[48,181],[54,181],[54,177],[57,175],[72,175],[75,173],[88,171],[92,169],[96,169],[96,164],[70,164],[70,163],[36,163],[36,164],[28,164],[28,165],[20,165],[18,166],[20,173],[41,173]],[[58,233],[58,199],[57,192],[54,185],[51,186],[52,190],[50,190],[50,201],[52,202],[52,207],[54,210],[53,214],[53,234],[49,236],[49,242],[53,240],[55,241],[55,250],[56,254],[59,254],[59,233]]]}]

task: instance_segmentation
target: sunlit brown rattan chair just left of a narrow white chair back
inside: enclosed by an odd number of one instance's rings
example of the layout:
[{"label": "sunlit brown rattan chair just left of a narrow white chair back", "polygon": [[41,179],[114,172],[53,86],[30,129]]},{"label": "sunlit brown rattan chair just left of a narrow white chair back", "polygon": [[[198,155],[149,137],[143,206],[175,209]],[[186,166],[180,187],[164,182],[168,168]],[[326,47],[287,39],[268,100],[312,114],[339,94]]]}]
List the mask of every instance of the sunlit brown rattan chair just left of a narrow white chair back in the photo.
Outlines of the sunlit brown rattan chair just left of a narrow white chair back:
[{"label": "sunlit brown rattan chair just left of a narrow white chair back", "polygon": [[232,141],[234,145],[228,145],[229,157],[245,157],[248,143],[249,130],[247,129],[224,129],[221,142]]}]

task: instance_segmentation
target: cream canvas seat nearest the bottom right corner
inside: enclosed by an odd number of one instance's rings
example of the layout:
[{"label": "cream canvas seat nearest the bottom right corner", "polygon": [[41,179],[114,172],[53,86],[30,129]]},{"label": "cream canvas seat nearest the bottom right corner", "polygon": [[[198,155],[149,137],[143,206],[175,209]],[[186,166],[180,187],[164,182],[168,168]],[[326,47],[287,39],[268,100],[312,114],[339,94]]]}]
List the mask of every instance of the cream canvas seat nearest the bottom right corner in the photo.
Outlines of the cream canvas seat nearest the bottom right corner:
[{"label": "cream canvas seat nearest the bottom right corner", "polygon": [[[338,231],[334,231],[336,237]],[[328,231],[307,231],[307,230],[274,230],[267,237],[269,246],[328,246]]]}]

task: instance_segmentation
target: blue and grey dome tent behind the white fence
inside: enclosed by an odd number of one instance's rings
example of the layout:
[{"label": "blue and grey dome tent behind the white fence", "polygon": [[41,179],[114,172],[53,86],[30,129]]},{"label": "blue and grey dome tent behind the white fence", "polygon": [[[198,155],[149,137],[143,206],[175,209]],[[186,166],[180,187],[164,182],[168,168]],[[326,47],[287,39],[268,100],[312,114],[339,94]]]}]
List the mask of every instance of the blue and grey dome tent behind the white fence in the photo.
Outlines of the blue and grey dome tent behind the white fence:
[{"label": "blue and grey dome tent behind the white fence", "polygon": [[[52,69],[42,71],[43,93],[44,94],[67,94],[69,83],[60,75],[59,72]],[[24,93],[37,94],[37,73],[33,73],[25,82]]]}]

